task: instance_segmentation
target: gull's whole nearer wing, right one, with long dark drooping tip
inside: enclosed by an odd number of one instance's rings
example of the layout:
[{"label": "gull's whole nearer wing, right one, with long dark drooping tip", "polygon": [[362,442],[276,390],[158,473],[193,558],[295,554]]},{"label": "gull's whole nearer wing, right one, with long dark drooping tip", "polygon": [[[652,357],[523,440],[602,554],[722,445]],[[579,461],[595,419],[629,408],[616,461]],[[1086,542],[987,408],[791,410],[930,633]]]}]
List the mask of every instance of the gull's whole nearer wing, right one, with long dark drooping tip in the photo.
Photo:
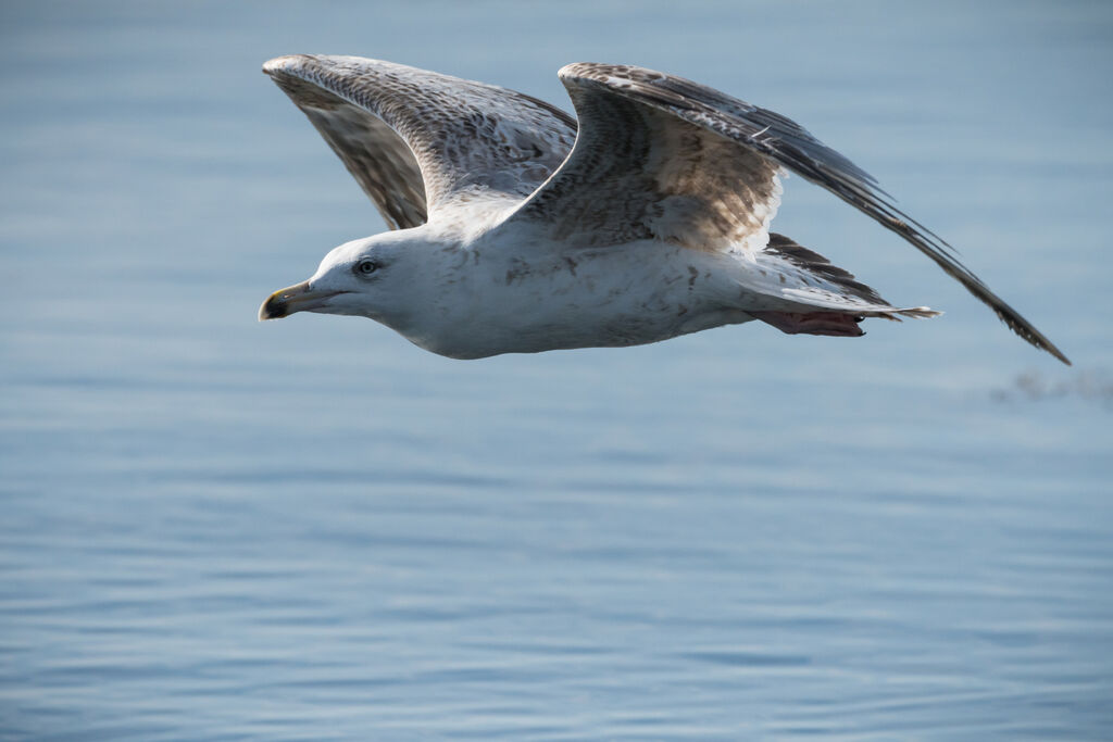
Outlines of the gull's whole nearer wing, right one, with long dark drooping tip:
[{"label": "gull's whole nearer wing, right one, with long dark drooping tip", "polygon": [[584,245],[652,237],[695,249],[761,249],[785,167],[904,237],[1013,332],[1070,364],[874,178],[796,122],[639,67],[583,62],[560,78],[579,116],[575,146],[511,219]]}]

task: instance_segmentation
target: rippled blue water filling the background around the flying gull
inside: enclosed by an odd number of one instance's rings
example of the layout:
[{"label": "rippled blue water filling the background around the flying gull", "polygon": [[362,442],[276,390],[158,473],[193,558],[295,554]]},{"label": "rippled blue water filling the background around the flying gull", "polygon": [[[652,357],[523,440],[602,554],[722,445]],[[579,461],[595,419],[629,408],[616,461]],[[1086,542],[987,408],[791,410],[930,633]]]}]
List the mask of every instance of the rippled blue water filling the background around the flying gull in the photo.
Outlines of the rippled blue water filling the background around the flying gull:
[{"label": "rippled blue water filling the background around the flying gull", "polygon": [[[0,738],[1102,739],[1113,8],[0,6]],[[453,362],[260,325],[381,220],[260,63],[567,106],[629,61],[876,175],[1075,366],[800,178],[932,321]]]}]

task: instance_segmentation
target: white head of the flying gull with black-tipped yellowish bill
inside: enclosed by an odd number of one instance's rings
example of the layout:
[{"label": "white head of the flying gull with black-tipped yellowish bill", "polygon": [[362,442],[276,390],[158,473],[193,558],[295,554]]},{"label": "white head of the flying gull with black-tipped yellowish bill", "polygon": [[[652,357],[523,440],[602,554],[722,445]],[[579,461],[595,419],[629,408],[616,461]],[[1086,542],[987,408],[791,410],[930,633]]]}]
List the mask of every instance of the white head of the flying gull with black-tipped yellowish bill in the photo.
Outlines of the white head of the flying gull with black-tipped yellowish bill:
[{"label": "white head of the flying gull with black-tipped yellowish bill", "polygon": [[412,289],[411,241],[402,233],[386,233],[341,245],[325,256],[312,278],[267,297],[259,319],[317,311],[358,315],[393,326]]}]

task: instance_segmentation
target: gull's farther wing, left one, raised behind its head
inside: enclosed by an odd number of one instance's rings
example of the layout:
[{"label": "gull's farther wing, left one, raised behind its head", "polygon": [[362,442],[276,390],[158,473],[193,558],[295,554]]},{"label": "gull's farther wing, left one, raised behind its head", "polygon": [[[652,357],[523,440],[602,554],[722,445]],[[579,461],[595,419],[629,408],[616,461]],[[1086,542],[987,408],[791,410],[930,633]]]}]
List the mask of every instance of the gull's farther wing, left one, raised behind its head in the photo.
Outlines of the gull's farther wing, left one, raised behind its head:
[{"label": "gull's farther wing, left one, raised behind its head", "polygon": [[575,139],[574,119],[544,101],[404,65],[293,55],[263,71],[394,228],[464,201],[521,200]]}]

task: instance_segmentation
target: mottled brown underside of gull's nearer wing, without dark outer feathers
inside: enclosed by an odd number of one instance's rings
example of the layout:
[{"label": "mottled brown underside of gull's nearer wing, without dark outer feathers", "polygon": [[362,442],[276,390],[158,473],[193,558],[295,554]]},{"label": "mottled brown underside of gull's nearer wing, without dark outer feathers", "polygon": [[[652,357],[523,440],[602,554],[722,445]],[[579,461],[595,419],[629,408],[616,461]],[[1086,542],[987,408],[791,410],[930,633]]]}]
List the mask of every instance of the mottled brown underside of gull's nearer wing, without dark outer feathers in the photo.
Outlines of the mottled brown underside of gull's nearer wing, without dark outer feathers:
[{"label": "mottled brown underside of gull's nearer wing, without dark outer feathers", "polygon": [[701,250],[764,247],[779,204],[776,162],[568,69],[575,146],[516,218],[583,247],[648,238]]}]

